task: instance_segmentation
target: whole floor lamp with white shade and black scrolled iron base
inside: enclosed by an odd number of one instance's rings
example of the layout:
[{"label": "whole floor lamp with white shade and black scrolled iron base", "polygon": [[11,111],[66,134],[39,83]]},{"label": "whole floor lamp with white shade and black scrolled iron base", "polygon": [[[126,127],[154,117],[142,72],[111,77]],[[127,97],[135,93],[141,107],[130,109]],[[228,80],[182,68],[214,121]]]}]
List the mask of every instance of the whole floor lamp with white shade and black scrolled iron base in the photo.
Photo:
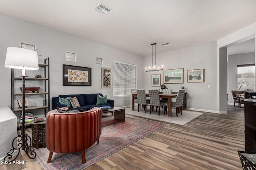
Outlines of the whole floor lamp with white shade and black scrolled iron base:
[{"label": "whole floor lamp with white shade and black scrolled iron base", "polygon": [[[17,68],[22,69],[22,124],[21,124],[21,134],[15,137],[12,141],[12,149],[10,152],[7,153],[7,155],[4,157],[4,160],[6,158],[11,159],[12,154],[15,150],[18,150],[18,154],[15,156],[13,160],[15,160],[19,153],[20,149],[24,150],[29,158],[34,159],[36,158],[36,152],[34,152],[34,149],[31,148],[31,138],[26,134],[26,123],[25,123],[25,69],[26,70],[38,70],[38,57],[37,52],[30,50],[30,49],[24,49],[24,48],[18,48],[18,47],[8,47],[6,51],[6,59],[4,66],[10,67],[10,68]],[[19,142],[17,144],[17,147],[15,147],[15,143],[17,141]],[[22,142],[22,143],[21,143]]]}]

